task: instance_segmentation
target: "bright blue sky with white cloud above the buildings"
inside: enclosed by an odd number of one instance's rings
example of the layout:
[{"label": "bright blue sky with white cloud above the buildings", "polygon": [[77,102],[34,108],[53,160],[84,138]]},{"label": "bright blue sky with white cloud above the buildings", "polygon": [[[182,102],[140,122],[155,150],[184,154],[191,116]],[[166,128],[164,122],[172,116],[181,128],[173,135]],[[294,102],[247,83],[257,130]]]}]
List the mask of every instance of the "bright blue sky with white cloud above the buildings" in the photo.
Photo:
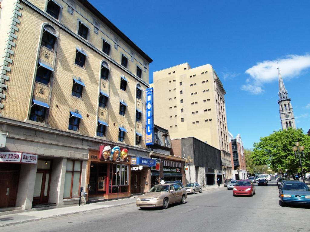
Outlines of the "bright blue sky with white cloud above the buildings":
[{"label": "bright blue sky with white cloud above the buildings", "polygon": [[310,1],[89,2],[153,59],[150,83],[154,71],[211,64],[244,148],[281,129],[276,61],[296,126],[310,129]]}]

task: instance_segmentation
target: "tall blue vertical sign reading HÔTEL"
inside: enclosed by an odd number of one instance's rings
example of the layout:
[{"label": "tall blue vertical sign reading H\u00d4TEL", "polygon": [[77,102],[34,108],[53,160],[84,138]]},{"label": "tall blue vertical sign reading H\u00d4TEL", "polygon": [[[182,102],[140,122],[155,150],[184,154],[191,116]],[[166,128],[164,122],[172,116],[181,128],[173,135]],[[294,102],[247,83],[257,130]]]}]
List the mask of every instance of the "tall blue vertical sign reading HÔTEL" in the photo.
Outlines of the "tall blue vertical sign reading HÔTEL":
[{"label": "tall blue vertical sign reading H\u00d4TEL", "polygon": [[154,102],[153,102],[154,90],[153,88],[146,89],[146,132],[145,132],[145,144],[153,145],[153,131],[154,131]]}]

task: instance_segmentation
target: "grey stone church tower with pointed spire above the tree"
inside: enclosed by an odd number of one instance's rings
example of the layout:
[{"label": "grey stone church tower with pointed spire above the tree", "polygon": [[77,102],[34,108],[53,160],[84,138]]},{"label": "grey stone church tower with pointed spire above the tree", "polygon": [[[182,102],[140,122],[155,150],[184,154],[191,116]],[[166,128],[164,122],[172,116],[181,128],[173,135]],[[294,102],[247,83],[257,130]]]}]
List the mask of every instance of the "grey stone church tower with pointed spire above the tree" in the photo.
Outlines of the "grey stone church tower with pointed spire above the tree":
[{"label": "grey stone church tower with pointed spire above the tree", "polygon": [[279,74],[279,100],[280,119],[282,131],[289,127],[296,128],[293,107],[290,104],[290,98],[287,97],[287,90],[285,89],[283,79],[281,77],[280,68],[278,67]]}]

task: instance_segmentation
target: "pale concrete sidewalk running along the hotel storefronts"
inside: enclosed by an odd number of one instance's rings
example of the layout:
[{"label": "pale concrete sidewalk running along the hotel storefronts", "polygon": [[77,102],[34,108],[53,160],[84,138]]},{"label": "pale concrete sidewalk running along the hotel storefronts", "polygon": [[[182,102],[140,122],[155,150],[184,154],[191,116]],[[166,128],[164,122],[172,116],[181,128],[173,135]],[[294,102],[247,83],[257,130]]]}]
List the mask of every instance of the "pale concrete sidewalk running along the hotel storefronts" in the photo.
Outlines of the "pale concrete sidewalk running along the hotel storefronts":
[{"label": "pale concrete sidewalk running along the hotel storefronts", "polygon": [[[224,185],[221,184],[220,187]],[[203,191],[220,188],[216,186],[207,186],[203,188]],[[110,201],[102,201],[93,204],[86,204],[86,205],[75,205],[75,206],[67,206],[67,207],[60,207],[60,208],[53,208],[53,209],[30,209],[25,210],[23,213],[14,213],[14,211],[7,211],[6,215],[0,216],[0,228],[4,226],[10,226],[15,224],[21,224],[28,221],[37,221],[44,218],[51,218],[51,217],[59,217],[65,216],[73,213],[80,213],[80,212],[87,212],[101,208],[110,208],[110,207],[118,207],[128,204],[135,204],[136,197],[120,199],[120,200],[110,200]]]}]

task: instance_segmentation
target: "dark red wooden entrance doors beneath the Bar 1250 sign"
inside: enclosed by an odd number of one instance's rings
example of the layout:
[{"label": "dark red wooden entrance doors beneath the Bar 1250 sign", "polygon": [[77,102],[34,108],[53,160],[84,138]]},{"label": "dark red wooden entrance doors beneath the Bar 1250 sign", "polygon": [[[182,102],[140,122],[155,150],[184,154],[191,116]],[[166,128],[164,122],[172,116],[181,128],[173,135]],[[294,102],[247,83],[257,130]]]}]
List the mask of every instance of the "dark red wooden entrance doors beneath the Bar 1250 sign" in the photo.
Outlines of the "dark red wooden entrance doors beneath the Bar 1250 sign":
[{"label": "dark red wooden entrance doors beneath the Bar 1250 sign", "polygon": [[[3,170],[8,167],[13,170]],[[2,169],[3,168],[3,169]],[[14,170],[18,169],[18,170]],[[14,207],[16,201],[20,165],[1,164],[0,166],[0,208]]]}]

